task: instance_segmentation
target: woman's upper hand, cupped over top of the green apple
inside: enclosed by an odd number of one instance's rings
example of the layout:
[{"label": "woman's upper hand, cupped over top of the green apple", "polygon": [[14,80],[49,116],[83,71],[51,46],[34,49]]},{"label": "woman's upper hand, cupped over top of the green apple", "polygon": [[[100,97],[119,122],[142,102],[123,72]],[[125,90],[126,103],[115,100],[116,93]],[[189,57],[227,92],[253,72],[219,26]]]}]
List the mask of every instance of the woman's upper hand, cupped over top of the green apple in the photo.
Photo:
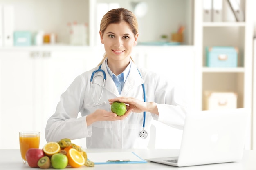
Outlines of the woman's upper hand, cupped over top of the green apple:
[{"label": "woman's upper hand, cupped over top of the green apple", "polygon": [[108,100],[110,104],[115,101],[124,102],[127,109],[133,109],[133,112],[140,113],[140,112],[151,112],[158,115],[158,109],[154,102],[143,102],[141,100],[135,99],[133,97],[117,97],[114,99]]}]

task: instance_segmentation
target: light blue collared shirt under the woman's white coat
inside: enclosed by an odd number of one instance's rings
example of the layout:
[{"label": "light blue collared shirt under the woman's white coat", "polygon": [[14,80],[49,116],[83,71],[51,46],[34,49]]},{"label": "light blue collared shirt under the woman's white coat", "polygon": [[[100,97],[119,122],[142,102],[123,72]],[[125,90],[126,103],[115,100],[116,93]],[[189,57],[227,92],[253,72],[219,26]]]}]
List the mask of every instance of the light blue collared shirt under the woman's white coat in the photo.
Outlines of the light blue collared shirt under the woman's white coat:
[{"label": "light blue collared shirt under the woman's white coat", "polygon": [[108,74],[112,77],[116,87],[117,87],[117,90],[119,92],[119,94],[121,94],[121,91],[124,87],[124,82],[126,81],[129,73],[130,73],[130,68],[131,68],[131,61],[129,63],[129,65],[126,67],[126,69],[124,69],[124,71],[119,74],[119,75],[115,75],[111,70],[110,68],[108,67],[108,64],[107,64],[107,60],[105,60],[106,62],[106,67],[107,67],[107,70],[108,70]]}]

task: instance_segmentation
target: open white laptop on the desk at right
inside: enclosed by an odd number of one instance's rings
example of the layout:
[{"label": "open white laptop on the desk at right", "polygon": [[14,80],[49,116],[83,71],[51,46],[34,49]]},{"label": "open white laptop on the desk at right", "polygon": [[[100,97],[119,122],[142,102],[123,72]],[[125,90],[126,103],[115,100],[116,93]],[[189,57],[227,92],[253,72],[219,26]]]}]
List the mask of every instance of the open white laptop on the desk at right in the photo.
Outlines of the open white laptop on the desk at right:
[{"label": "open white laptop on the desk at right", "polygon": [[178,157],[145,160],[179,167],[240,161],[248,123],[245,108],[187,113]]}]

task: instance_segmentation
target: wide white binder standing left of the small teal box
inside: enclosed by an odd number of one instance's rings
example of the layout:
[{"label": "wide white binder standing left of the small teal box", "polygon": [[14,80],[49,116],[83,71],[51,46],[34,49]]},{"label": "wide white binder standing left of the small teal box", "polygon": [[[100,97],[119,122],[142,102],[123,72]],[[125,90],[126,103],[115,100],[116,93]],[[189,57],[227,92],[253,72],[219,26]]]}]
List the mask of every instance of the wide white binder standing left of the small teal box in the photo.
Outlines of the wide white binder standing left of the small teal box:
[{"label": "wide white binder standing left of the small teal box", "polygon": [[4,46],[13,46],[14,32],[14,7],[11,5],[3,8],[3,44]]}]

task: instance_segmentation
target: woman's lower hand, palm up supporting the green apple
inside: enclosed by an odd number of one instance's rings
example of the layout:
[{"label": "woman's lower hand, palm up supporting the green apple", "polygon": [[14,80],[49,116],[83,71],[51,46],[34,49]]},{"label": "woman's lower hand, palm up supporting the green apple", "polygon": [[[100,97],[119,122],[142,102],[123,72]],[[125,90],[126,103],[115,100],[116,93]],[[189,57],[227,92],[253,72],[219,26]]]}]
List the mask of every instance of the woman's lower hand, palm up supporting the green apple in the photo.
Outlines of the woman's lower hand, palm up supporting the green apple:
[{"label": "woman's lower hand, palm up supporting the green apple", "polygon": [[96,121],[115,121],[115,120],[123,120],[125,119],[131,112],[132,108],[128,108],[126,113],[122,116],[117,116],[117,114],[113,112],[108,112],[103,109],[97,109],[95,112],[91,113],[86,117],[87,126],[91,125]]}]

